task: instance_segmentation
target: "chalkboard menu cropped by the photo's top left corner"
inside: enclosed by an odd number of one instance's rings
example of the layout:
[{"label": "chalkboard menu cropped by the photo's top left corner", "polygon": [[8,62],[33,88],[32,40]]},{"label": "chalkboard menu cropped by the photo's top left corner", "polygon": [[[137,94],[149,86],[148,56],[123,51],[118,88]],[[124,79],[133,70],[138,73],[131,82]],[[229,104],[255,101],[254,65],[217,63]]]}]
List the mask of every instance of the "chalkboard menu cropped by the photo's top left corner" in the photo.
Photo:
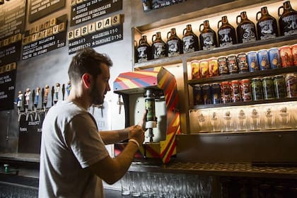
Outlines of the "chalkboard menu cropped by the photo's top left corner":
[{"label": "chalkboard menu cropped by the photo's top left corner", "polygon": [[5,1],[0,6],[0,40],[25,30],[25,0]]}]

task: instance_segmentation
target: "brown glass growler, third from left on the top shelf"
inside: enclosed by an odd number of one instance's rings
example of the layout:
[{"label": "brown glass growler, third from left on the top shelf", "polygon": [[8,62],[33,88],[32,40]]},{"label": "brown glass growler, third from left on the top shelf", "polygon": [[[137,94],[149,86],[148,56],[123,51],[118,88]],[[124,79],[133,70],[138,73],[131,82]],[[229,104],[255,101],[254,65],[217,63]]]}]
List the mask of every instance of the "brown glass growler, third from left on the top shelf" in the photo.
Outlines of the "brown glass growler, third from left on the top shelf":
[{"label": "brown glass growler, third from left on the top shelf", "polygon": [[182,40],[177,37],[175,28],[171,28],[167,33],[168,57],[173,57],[182,54]]}]

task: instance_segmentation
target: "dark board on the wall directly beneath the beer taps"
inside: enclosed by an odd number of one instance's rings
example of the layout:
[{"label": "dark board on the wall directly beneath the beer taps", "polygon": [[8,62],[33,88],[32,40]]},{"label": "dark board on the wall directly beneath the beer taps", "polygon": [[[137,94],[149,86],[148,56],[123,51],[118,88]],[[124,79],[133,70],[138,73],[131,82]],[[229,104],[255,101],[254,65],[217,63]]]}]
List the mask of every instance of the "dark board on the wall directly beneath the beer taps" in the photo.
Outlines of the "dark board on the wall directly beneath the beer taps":
[{"label": "dark board on the wall directly beneath the beer taps", "polygon": [[19,116],[18,153],[40,153],[41,128],[45,114],[40,113],[39,119],[35,119],[33,112]]}]

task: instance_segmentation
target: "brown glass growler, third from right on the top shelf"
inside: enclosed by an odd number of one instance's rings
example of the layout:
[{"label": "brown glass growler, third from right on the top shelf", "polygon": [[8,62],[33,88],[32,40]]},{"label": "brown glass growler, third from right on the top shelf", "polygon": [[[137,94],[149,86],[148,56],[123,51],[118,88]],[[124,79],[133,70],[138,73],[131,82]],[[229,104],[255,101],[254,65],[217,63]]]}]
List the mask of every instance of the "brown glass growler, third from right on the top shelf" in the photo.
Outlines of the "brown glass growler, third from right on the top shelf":
[{"label": "brown glass growler, third from right on the top shelf", "polygon": [[[238,18],[241,18],[240,23],[238,23]],[[236,17],[236,23],[238,25],[236,28],[238,43],[257,40],[255,24],[248,19],[245,11],[241,12],[240,15]]]}]

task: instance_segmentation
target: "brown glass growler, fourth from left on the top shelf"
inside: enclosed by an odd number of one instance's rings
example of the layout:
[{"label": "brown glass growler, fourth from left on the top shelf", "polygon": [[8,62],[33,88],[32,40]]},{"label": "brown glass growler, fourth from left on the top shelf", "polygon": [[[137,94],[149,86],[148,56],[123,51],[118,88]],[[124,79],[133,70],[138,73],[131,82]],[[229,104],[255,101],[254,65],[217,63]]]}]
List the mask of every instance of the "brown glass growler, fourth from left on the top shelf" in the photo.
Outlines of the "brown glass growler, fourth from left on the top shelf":
[{"label": "brown glass growler, fourth from left on the top shelf", "polygon": [[192,31],[192,25],[188,24],[187,28],[182,31],[183,52],[194,52],[199,50],[198,37]]}]

